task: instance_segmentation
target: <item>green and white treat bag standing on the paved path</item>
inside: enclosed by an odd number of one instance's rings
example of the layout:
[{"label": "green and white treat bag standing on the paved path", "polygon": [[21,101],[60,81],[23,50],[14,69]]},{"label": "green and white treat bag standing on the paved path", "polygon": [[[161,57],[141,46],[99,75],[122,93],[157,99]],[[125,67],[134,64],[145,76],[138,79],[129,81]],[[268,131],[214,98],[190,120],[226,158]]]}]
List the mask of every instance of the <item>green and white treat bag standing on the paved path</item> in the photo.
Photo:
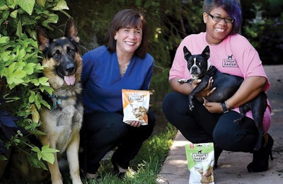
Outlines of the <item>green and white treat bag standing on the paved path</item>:
[{"label": "green and white treat bag standing on the paved path", "polygon": [[187,167],[190,171],[190,184],[214,184],[214,144],[186,144]]}]

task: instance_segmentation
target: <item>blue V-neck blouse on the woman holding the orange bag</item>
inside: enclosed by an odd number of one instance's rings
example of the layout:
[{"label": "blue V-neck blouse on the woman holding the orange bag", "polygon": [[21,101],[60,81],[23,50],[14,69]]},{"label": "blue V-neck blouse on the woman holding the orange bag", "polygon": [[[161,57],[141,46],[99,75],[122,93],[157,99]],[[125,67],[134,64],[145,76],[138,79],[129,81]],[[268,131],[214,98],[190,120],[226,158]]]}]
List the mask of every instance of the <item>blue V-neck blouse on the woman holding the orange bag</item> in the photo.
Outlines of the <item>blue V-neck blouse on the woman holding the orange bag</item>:
[{"label": "blue V-neck blouse on the woman holding the orange bag", "polygon": [[120,76],[117,53],[105,45],[83,54],[83,105],[85,113],[122,111],[122,88],[148,90],[154,58],[133,56],[124,76]]}]

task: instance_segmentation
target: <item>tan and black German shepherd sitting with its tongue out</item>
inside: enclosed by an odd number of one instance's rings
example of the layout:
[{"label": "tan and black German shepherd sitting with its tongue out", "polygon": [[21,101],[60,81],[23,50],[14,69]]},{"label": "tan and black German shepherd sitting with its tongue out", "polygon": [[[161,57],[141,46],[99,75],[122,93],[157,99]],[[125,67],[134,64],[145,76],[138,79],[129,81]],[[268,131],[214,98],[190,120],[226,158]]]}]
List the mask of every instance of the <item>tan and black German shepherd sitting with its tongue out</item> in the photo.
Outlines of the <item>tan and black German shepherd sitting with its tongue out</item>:
[{"label": "tan and black German shepherd sitting with its tongue out", "polygon": [[[51,109],[40,111],[40,130],[45,135],[39,137],[43,145],[66,151],[72,183],[81,183],[79,175],[79,132],[83,120],[81,103],[82,59],[79,54],[79,37],[74,19],[66,23],[64,37],[52,40],[44,29],[37,27],[37,42],[44,54],[43,75],[47,76],[54,89],[47,101]],[[57,153],[54,163],[47,163],[52,183],[63,183],[59,171]]]}]

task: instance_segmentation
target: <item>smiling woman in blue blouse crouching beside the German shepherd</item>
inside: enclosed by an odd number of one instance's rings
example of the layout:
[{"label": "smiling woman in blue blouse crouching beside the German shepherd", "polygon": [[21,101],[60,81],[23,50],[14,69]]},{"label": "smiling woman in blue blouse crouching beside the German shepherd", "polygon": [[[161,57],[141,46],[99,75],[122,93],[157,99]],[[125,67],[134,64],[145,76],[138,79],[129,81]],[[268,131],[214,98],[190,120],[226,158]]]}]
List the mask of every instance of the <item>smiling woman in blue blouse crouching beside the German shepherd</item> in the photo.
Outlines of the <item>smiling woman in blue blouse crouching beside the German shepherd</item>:
[{"label": "smiling woman in blue blouse crouching beside the German shepherd", "polygon": [[[113,168],[124,177],[129,161],[154,130],[156,118],[149,109],[148,125],[123,122],[122,89],[148,91],[154,58],[146,53],[149,35],[141,13],[119,11],[110,23],[105,45],[83,55],[83,104],[85,107],[80,156],[87,178],[95,178],[100,160],[117,146]],[[87,151],[86,151],[87,150]]]}]

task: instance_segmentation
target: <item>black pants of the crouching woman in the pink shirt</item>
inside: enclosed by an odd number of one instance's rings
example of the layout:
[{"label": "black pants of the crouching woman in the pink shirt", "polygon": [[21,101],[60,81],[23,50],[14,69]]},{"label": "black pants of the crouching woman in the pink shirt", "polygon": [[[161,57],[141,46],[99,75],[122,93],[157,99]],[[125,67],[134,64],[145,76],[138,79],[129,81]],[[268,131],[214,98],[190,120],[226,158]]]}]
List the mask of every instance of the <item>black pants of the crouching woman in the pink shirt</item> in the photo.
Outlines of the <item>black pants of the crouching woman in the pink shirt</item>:
[{"label": "black pants of the crouching woman in the pink shirt", "polygon": [[187,96],[171,92],[163,100],[163,113],[172,125],[192,143],[214,142],[226,151],[253,151],[258,140],[255,122],[244,117],[236,124],[239,113],[209,113],[202,103],[193,100],[195,108],[189,109]]}]

